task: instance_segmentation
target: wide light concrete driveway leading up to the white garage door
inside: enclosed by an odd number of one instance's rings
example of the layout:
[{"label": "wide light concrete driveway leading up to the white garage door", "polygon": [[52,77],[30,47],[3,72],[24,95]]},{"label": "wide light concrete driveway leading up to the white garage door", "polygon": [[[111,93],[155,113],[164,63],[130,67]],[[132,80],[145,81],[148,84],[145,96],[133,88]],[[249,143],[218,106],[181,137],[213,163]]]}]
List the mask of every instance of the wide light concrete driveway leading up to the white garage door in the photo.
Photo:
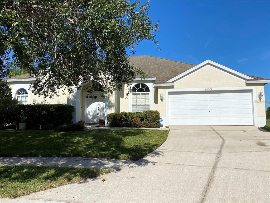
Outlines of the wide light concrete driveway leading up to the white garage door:
[{"label": "wide light concrete driveway leading up to the white garage door", "polygon": [[170,126],[163,145],[119,171],[21,198],[269,202],[269,139],[254,126]]}]

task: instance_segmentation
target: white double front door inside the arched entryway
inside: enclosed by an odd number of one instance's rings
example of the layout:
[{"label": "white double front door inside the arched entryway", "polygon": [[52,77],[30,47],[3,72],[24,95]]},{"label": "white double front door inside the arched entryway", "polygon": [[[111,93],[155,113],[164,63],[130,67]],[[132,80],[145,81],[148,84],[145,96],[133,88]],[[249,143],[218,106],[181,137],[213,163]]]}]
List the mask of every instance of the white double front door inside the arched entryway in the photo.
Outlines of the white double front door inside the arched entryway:
[{"label": "white double front door inside the arched entryway", "polygon": [[105,100],[100,93],[92,94],[88,98],[84,97],[84,107],[86,123],[98,123],[99,119],[105,120]]}]

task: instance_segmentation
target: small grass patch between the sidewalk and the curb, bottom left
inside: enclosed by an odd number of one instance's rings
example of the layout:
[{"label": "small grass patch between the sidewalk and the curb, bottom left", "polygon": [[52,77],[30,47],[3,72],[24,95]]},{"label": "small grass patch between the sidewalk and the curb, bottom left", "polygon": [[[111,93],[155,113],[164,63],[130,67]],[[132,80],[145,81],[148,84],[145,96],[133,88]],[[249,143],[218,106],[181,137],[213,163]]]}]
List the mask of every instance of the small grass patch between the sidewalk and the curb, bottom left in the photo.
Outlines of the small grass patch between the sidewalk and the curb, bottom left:
[{"label": "small grass patch between the sidewalk and the curb, bottom left", "polygon": [[0,197],[15,198],[109,172],[94,168],[0,166]]}]

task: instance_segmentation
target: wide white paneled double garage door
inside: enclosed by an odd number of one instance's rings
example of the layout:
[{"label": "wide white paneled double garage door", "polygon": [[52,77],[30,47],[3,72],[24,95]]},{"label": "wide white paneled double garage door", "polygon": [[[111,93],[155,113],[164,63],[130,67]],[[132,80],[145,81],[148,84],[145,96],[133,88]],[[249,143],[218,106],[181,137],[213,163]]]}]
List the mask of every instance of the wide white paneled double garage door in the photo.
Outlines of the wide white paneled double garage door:
[{"label": "wide white paneled double garage door", "polygon": [[253,125],[250,91],[169,93],[170,125]]}]

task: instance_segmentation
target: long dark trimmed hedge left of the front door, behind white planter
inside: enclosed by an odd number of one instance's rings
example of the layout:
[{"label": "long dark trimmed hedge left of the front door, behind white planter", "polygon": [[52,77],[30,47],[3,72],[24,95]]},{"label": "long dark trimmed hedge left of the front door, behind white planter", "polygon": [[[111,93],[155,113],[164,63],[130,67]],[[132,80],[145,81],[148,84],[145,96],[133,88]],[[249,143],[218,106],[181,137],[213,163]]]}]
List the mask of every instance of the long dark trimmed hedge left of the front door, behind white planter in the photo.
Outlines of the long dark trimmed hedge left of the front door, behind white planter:
[{"label": "long dark trimmed hedge left of the front door, behind white planter", "polygon": [[[18,116],[21,110],[27,113],[27,128],[55,129],[63,124],[71,124],[74,107],[68,104],[19,104]],[[17,117],[17,123],[19,123]]]}]

